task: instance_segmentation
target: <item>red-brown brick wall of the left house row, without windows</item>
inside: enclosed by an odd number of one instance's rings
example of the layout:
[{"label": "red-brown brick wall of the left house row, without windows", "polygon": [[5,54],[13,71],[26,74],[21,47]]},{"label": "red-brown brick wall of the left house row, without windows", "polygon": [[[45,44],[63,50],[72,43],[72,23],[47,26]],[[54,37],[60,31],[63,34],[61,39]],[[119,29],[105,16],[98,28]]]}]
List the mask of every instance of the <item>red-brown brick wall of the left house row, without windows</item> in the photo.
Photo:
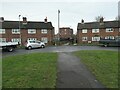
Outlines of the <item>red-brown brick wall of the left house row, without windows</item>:
[{"label": "red-brown brick wall of the left house row, without windows", "polygon": [[12,29],[5,29],[5,34],[0,34],[2,38],[6,38],[6,42],[11,42],[13,38],[22,39],[22,45],[25,44],[28,38],[36,38],[37,40],[41,40],[42,37],[48,38],[47,45],[52,44],[54,38],[54,29],[49,29],[47,34],[42,34],[40,29],[36,29],[36,34],[28,34],[28,29],[21,29],[20,34],[12,34]]}]

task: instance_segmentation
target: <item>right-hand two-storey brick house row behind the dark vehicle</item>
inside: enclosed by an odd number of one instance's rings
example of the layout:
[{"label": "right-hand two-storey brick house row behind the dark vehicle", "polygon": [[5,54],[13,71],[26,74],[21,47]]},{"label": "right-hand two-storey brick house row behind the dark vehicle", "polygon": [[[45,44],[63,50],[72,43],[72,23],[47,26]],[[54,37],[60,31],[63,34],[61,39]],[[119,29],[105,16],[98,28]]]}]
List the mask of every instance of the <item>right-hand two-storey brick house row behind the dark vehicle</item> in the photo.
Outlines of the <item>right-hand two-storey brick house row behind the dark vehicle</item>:
[{"label": "right-hand two-storey brick house row behind the dark vehicle", "polygon": [[77,42],[84,43],[98,43],[100,39],[115,39],[118,37],[120,27],[118,21],[103,21],[78,23],[77,26]]}]

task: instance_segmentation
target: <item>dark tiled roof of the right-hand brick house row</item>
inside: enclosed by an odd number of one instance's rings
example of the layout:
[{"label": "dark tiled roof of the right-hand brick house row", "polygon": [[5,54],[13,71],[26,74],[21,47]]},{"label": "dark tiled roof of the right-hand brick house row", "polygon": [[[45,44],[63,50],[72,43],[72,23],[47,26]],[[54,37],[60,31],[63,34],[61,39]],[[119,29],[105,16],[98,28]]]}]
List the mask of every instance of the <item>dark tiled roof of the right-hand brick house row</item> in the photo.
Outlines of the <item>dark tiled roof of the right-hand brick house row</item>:
[{"label": "dark tiled roof of the right-hand brick house row", "polygon": [[100,22],[89,22],[89,23],[78,23],[77,29],[91,29],[91,28],[118,28],[118,21],[106,21]]}]

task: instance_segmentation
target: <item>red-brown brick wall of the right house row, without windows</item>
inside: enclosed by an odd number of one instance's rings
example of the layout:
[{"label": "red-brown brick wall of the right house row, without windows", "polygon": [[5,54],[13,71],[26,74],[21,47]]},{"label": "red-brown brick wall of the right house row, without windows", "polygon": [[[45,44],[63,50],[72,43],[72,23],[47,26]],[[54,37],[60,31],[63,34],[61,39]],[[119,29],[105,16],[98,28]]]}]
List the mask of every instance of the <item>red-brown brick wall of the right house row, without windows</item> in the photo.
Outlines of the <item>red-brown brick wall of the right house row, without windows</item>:
[{"label": "red-brown brick wall of the right house row, without windows", "polygon": [[[81,30],[77,30],[77,42],[79,44],[83,43],[98,43],[98,41],[92,41],[92,37],[99,36],[100,38],[105,38],[106,36],[118,36],[119,28],[113,28],[113,32],[106,32],[106,28],[99,29],[99,33],[92,33],[92,28],[87,29],[87,33],[82,33]],[[82,37],[87,37],[88,39],[86,41],[82,40]],[[89,42],[90,41],[90,42]]]}]

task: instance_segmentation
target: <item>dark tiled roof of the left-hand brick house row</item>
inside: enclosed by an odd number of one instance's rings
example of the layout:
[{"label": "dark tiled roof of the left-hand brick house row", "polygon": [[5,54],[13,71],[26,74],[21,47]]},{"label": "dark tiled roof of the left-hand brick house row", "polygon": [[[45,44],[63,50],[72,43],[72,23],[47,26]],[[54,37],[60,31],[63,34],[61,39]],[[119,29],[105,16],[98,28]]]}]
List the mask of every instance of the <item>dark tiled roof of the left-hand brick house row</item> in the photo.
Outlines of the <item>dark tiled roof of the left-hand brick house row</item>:
[{"label": "dark tiled roof of the left-hand brick house row", "polygon": [[[19,28],[19,21],[3,21],[0,22],[2,24],[3,29],[18,29]],[[28,21],[27,24],[23,24],[22,21],[20,21],[20,28],[26,28],[26,29],[53,29],[51,22],[34,22],[34,21]]]}]

